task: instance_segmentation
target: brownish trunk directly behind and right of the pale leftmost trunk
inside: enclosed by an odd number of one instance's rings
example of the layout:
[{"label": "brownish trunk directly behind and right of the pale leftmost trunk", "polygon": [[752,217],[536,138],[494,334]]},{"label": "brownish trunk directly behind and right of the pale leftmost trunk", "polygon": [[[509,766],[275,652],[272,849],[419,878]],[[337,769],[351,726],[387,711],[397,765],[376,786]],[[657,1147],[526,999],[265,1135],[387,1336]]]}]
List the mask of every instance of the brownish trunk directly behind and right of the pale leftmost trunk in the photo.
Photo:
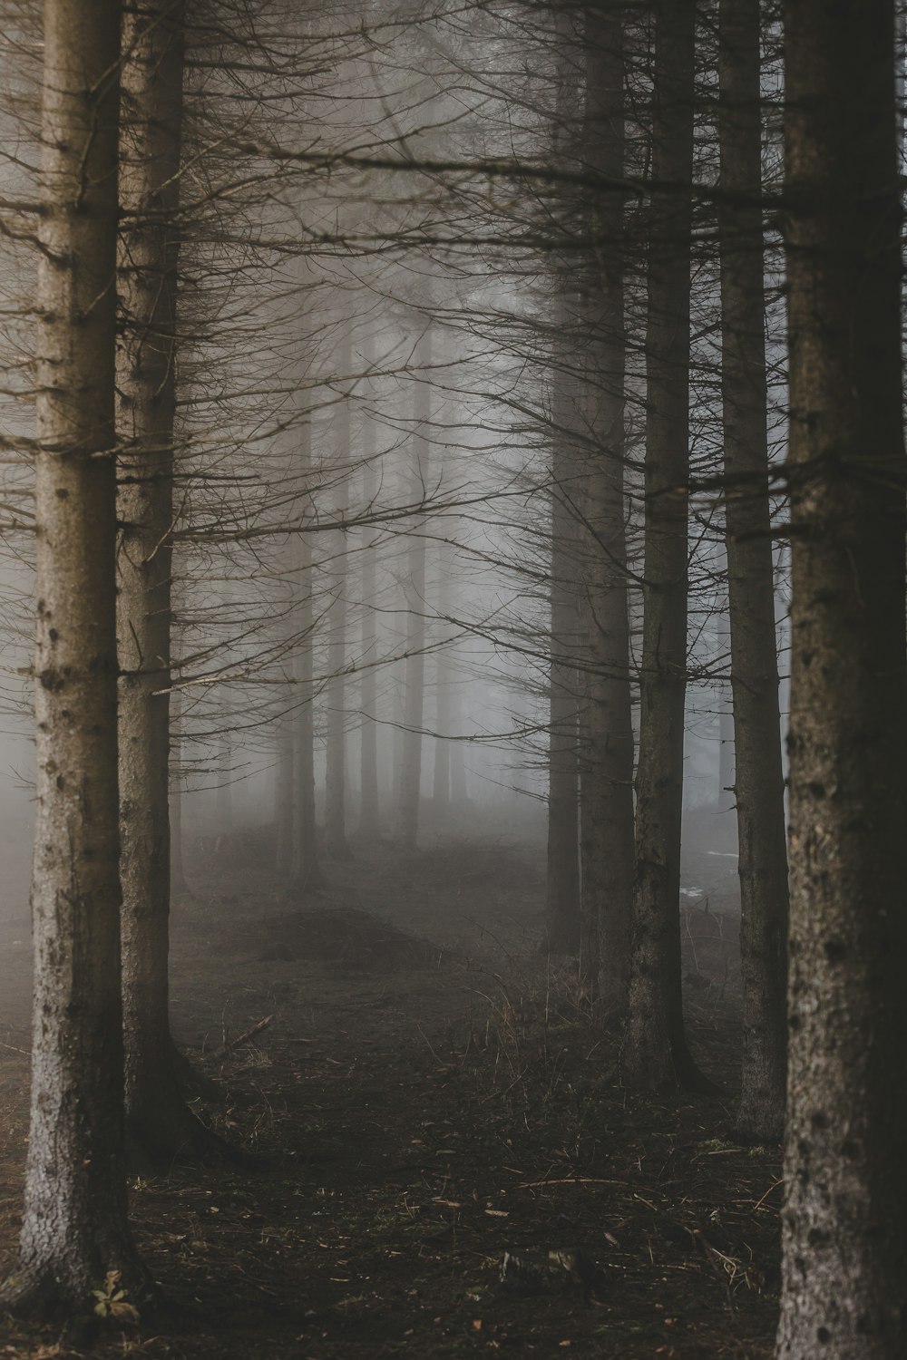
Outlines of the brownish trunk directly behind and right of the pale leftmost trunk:
[{"label": "brownish trunk directly behind and right of the pale leftmost trunk", "polygon": [[117,634],[126,1117],[141,1166],[213,1151],[185,1104],[170,1035],[170,623],[181,4],[124,20],[117,352]]}]

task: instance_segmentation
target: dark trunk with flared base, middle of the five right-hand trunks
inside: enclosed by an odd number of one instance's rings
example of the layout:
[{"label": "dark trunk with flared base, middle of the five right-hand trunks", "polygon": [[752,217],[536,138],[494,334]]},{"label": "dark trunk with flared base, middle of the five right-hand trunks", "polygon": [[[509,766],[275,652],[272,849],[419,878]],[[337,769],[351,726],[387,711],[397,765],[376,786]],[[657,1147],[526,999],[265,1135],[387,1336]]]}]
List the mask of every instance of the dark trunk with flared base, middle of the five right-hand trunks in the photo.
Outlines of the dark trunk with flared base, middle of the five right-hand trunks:
[{"label": "dark trunk with flared base, middle of the five right-hand trunks", "polygon": [[635,941],[623,1054],[627,1081],[650,1089],[699,1080],[684,1034],[680,957],[694,20],[695,0],[655,7]]}]

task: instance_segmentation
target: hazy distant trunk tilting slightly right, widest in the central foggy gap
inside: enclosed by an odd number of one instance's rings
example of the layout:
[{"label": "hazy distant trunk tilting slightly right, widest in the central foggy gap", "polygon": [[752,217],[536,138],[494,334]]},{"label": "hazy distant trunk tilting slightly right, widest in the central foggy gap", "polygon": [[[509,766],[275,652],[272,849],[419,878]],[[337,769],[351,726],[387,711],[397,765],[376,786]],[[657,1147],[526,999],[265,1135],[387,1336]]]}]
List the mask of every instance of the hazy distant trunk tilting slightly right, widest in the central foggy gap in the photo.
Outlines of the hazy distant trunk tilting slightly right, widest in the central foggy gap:
[{"label": "hazy distant trunk tilting slightly right, widest in the central foggy gap", "polygon": [[[428,479],[428,426],[431,420],[431,328],[416,345],[417,378],[413,381],[413,431],[411,438],[409,500],[420,502]],[[400,802],[397,839],[411,850],[419,843],[422,798],[422,729],[426,703],[426,540],[420,529],[407,548],[407,661],[400,733]]]}]

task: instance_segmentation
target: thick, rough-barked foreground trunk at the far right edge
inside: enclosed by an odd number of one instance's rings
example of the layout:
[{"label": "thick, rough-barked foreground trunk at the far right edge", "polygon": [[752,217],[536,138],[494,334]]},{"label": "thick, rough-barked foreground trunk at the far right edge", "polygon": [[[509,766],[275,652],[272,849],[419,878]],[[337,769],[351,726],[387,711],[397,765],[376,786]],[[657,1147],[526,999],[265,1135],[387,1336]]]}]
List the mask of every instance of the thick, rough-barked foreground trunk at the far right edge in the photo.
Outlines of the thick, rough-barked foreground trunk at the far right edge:
[{"label": "thick, rough-barked foreground trunk at the far right edge", "polygon": [[787,0],[790,1053],[778,1355],[907,1318],[907,675],[895,5]]}]

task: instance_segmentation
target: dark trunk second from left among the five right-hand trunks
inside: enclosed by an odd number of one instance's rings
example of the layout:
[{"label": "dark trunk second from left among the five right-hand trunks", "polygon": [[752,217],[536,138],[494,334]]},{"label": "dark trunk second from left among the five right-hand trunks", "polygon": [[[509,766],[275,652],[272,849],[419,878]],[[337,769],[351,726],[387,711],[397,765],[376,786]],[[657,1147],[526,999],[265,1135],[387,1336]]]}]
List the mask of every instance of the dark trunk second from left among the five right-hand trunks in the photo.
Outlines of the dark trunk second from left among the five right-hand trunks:
[{"label": "dark trunk second from left among the five right-hand trunks", "polygon": [[[615,11],[586,14],[583,160],[612,181],[624,169],[623,24]],[[589,636],[581,774],[582,975],[615,1015],[627,1009],[632,942],[634,737],[624,506],[623,199],[590,205],[598,248],[589,262],[585,418],[594,447],[586,481],[585,577]]]}]

